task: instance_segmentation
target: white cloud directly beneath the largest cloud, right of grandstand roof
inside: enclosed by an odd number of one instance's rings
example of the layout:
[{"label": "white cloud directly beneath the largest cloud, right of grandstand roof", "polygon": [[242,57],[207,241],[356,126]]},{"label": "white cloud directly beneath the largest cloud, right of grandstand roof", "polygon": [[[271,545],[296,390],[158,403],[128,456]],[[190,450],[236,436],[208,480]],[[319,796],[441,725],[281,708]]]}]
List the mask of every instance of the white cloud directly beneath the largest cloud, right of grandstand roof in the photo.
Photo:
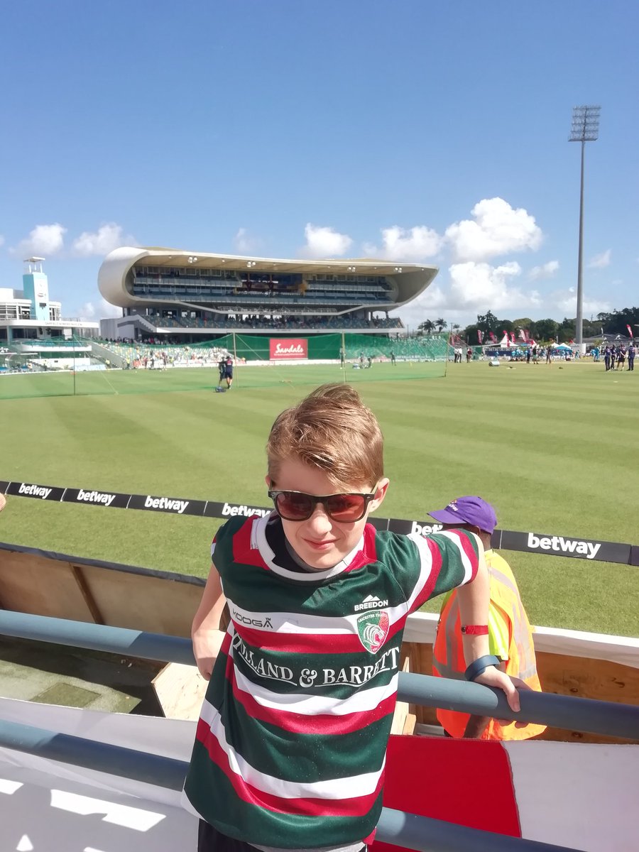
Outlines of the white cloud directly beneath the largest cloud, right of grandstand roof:
[{"label": "white cloud directly beneath the largest cloud, right of grandstand roof", "polygon": [[451,289],[448,303],[457,310],[519,310],[534,308],[541,303],[538,291],[525,291],[512,285],[512,280],[521,275],[521,266],[515,261],[498,267],[472,261],[454,263],[449,273]]}]

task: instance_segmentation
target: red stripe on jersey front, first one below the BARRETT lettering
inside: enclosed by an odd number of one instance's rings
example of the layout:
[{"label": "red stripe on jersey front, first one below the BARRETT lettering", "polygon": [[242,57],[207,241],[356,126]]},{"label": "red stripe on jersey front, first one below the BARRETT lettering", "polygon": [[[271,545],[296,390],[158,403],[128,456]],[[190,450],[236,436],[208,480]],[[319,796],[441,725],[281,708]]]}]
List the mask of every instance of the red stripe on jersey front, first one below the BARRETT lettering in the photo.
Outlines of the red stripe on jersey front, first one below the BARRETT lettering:
[{"label": "red stripe on jersey front, first one below the BARRETT lettering", "polygon": [[389,695],[374,710],[347,713],[343,716],[335,716],[331,713],[316,713],[309,716],[284,708],[275,709],[260,704],[252,695],[239,688],[235,671],[228,667],[227,679],[233,685],[233,698],[244,707],[251,718],[260,722],[267,722],[276,728],[289,731],[291,734],[326,734],[327,736],[331,734],[352,734],[354,731],[366,728],[366,725],[370,722],[377,722],[377,719],[392,714],[397,698],[396,693]]}]

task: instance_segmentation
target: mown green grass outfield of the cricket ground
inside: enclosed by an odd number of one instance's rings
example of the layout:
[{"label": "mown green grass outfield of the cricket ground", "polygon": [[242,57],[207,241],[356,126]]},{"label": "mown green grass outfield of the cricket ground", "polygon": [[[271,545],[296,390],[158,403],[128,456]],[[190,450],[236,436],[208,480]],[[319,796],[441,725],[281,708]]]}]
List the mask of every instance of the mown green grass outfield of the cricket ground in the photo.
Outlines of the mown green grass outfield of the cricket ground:
[{"label": "mown green grass outfield of the cricket ground", "polygon": [[[606,373],[585,361],[561,369],[473,362],[450,364],[446,378],[421,379],[420,367],[429,365],[346,373],[386,439],[391,486],[380,515],[423,518],[477,493],[495,505],[504,529],[639,543],[639,373]],[[0,479],[265,505],[264,444],[273,418],[341,372],[293,367],[291,379],[279,371],[260,388],[243,383],[250,368],[242,369],[226,394],[156,393],[178,377],[110,371],[98,378],[112,384],[104,394],[5,399]],[[399,378],[409,370],[414,381]],[[179,372],[181,383],[196,388],[216,384],[216,371]],[[303,377],[309,386],[288,383]],[[2,377],[0,384],[33,378]],[[217,525],[9,498],[0,539],[204,576]],[[535,623],[639,636],[636,567],[504,555]]]}]

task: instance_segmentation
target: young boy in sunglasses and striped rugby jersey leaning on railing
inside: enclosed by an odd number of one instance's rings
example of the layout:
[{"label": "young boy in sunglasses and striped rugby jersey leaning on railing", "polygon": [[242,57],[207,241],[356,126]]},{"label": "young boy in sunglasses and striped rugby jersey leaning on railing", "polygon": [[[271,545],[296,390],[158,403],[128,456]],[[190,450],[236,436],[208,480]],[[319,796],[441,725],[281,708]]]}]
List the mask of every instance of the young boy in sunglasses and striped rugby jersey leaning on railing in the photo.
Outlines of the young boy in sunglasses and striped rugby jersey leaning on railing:
[{"label": "young boy in sunglasses and striped rugby jersey leaning on railing", "polygon": [[479,538],[366,523],[389,480],[377,419],[353,388],[324,385],[282,412],[267,455],[275,510],[218,531],[193,621],[210,683],[185,794],[199,852],[360,852],[382,808],[409,613],[463,585],[468,675],[504,689],[513,710],[519,697],[487,656]]}]

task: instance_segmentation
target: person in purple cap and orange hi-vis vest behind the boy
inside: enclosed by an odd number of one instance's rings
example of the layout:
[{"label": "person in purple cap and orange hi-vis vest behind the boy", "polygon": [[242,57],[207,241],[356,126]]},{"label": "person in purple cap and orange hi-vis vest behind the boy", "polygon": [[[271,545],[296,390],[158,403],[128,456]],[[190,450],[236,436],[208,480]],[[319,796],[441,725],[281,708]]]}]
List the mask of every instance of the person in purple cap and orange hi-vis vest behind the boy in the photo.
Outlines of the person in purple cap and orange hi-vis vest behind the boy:
[{"label": "person in purple cap and orange hi-vis vest behind the boy", "polygon": [[[487,625],[462,625],[459,616],[457,591],[444,598],[433,645],[433,674],[463,680],[466,664],[463,659],[463,633],[488,635],[490,653],[501,659],[502,671],[520,677],[527,686],[541,692],[533,645],[533,631],[521,602],[517,583],[508,562],[491,547],[492,531],[497,515],[491,504],[481,497],[460,497],[446,509],[429,512],[446,528],[466,529],[481,538],[490,576],[490,610]],[[480,740],[529,740],[542,734],[545,725],[521,722],[500,724],[496,719],[469,716],[438,708],[437,718],[446,734],[452,737],[473,737]]]}]

